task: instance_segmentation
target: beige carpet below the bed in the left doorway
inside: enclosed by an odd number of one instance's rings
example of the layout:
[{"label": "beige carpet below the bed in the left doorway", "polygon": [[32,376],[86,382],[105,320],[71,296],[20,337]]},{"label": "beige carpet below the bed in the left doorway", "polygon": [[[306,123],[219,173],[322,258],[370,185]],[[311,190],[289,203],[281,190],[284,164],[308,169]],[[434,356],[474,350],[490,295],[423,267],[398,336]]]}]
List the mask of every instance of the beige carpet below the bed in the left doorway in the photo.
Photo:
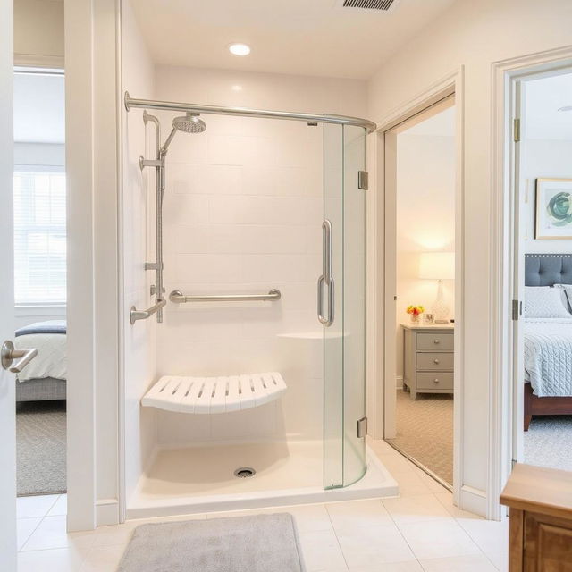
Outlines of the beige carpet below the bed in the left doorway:
[{"label": "beige carpet below the bed in the left doorway", "polygon": [[65,492],[65,401],[16,408],[18,496]]}]

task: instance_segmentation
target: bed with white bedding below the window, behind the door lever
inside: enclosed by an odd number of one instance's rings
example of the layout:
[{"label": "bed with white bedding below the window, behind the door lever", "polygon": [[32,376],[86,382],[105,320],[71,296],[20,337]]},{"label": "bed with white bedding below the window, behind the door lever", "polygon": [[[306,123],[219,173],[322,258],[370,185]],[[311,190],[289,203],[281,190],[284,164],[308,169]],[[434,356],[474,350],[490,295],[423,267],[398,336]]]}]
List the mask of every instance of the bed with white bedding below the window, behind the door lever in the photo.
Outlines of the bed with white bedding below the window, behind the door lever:
[{"label": "bed with white bedding below the window, behind the door lever", "polygon": [[38,356],[16,376],[17,402],[65,400],[66,339],[65,320],[29,324],[16,332],[16,349],[38,349]]}]

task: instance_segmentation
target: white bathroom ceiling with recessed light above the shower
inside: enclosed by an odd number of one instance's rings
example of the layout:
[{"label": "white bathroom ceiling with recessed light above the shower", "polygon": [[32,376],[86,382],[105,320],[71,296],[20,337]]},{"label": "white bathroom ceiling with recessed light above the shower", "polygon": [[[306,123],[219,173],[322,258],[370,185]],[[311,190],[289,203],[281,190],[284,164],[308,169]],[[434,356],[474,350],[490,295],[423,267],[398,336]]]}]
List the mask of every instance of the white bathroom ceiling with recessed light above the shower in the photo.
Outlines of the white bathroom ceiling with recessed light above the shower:
[{"label": "white bathroom ceiling with recessed light above the shower", "polygon": [[[136,0],[155,63],[367,79],[454,0],[400,0],[389,13],[339,0]],[[231,55],[246,43],[246,57]]]}]

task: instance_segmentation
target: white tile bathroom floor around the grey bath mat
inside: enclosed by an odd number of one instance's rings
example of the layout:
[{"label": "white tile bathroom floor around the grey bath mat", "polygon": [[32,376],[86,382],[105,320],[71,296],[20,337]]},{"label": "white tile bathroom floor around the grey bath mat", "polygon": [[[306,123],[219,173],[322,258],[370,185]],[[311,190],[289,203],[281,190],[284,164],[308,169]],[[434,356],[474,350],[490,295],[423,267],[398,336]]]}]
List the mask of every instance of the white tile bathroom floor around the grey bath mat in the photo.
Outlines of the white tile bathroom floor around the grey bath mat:
[{"label": "white tile bathroom floor around the grey bath mat", "polygon": [[[371,442],[400,484],[399,499],[241,510],[296,518],[307,572],[495,572],[508,569],[508,522],[456,509],[450,492],[384,442]],[[19,572],[112,572],[135,526],[66,534],[65,495],[18,499]],[[181,520],[185,517],[157,518]]]}]

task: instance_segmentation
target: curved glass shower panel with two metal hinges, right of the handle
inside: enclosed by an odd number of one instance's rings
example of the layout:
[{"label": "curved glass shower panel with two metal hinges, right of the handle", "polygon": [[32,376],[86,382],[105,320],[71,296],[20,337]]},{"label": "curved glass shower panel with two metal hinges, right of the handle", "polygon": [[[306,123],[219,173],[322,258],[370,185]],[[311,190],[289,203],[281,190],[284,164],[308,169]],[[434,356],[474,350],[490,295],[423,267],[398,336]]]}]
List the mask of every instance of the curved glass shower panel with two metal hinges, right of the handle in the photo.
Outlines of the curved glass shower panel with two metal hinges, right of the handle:
[{"label": "curved glass shower panel with two metal hinges, right of the handle", "polygon": [[343,485],[366,473],[366,130],[343,127]]}]

